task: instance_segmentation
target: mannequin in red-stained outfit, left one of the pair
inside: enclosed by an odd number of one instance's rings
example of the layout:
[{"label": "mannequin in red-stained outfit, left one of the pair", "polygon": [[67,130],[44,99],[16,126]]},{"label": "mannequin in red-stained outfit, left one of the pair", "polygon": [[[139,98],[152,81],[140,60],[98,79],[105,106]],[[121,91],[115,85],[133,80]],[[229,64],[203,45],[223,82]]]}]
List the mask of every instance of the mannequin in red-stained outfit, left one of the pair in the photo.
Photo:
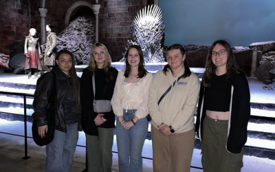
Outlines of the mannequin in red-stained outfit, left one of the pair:
[{"label": "mannequin in red-stained outfit, left one of the pair", "polygon": [[30,29],[29,36],[25,36],[25,74],[28,74],[28,78],[38,78],[38,72],[42,70],[40,59],[43,57],[41,54],[41,48],[39,45],[39,38],[36,38],[36,30]]}]

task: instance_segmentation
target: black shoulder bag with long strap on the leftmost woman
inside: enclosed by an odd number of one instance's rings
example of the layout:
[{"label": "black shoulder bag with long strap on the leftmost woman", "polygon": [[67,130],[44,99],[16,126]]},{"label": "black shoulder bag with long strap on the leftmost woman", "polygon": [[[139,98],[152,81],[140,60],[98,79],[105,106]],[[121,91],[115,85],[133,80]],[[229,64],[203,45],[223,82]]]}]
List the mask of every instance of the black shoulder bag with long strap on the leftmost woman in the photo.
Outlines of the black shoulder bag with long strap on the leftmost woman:
[{"label": "black shoulder bag with long strap on the leftmost woman", "polygon": [[45,133],[45,137],[41,138],[41,136],[39,136],[39,126],[37,125],[37,120],[34,119],[32,122],[32,138],[34,139],[34,142],[40,147],[52,142],[54,139],[54,131],[56,127],[56,74],[54,74],[54,72],[52,73],[52,92],[49,99],[49,105],[47,106],[47,133]]}]

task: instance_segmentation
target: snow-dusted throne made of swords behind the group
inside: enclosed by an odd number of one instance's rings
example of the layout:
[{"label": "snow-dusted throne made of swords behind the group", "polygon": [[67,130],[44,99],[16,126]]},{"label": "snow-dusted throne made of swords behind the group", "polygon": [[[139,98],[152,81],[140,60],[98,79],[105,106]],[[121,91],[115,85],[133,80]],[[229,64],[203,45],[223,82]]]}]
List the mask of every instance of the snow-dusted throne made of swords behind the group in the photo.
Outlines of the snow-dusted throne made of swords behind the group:
[{"label": "snow-dusted throne made of swords behind the group", "polygon": [[[144,55],[145,63],[164,62],[162,47],[164,46],[164,23],[162,12],[158,6],[148,6],[137,13],[131,25],[131,40],[127,46],[140,45]],[[125,49],[127,50],[128,47]],[[123,55],[126,54],[126,52]],[[125,59],[120,60],[124,62]]]}]

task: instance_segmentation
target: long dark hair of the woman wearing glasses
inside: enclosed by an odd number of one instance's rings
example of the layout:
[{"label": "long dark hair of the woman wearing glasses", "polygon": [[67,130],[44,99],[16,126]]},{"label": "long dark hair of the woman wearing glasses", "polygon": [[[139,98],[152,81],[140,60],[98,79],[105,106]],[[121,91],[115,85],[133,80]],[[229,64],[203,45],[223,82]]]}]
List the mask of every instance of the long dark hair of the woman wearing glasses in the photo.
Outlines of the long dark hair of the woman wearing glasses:
[{"label": "long dark hair of the woman wearing glasses", "polygon": [[223,46],[226,52],[228,53],[228,61],[226,62],[227,78],[229,78],[233,74],[243,72],[242,69],[239,67],[239,65],[236,63],[231,45],[224,40],[214,41],[214,43],[212,43],[210,50],[208,52],[207,59],[206,59],[206,71],[203,73],[203,77],[202,77],[202,82],[204,87],[210,87],[210,81],[215,74],[215,70],[217,69],[217,67],[212,62],[212,50],[217,44]]}]

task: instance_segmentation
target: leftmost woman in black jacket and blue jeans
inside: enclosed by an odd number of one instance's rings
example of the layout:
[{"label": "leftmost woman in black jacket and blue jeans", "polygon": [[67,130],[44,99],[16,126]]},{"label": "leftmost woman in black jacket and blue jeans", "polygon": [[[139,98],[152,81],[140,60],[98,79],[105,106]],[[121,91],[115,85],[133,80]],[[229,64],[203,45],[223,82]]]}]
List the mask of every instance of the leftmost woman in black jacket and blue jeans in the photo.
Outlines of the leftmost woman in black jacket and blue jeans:
[{"label": "leftmost woman in black jacket and blue jeans", "polygon": [[[53,85],[53,76],[56,85]],[[56,54],[56,66],[52,72],[43,74],[37,80],[34,93],[34,114],[37,120],[39,136],[47,133],[47,106],[56,87],[56,130],[54,140],[46,145],[46,171],[71,171],[74,152],[78,141],[80,127],[80,78],[76,75],[74,56],[68,50]]]}]

